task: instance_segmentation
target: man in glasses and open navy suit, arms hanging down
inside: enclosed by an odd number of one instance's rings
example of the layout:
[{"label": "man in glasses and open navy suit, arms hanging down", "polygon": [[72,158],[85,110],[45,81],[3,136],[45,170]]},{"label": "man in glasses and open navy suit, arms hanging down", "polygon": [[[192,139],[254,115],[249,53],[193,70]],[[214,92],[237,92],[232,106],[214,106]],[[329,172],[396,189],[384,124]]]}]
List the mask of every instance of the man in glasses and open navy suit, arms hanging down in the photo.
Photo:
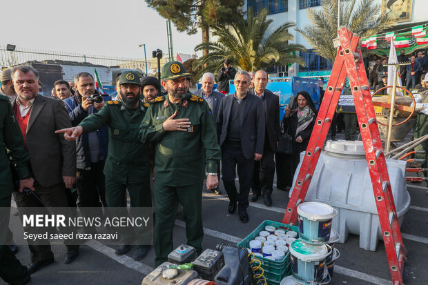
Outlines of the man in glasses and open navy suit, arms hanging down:
[{"label": "man in glasses and open navy suit, arms hanging down", "polygon": [[[264,109],[262,99],[249,92],[251,77],[246,71],[235,75],[236,92],[220,103],[217,133],[222,148],[222,179],[229,197],[228,212],[235,213],[237,203],[241,222],[249,222],[246,208],[253,178],[254,161],[262,159],[264,146]],[[235,186],[235,168],[240,193]]]}]

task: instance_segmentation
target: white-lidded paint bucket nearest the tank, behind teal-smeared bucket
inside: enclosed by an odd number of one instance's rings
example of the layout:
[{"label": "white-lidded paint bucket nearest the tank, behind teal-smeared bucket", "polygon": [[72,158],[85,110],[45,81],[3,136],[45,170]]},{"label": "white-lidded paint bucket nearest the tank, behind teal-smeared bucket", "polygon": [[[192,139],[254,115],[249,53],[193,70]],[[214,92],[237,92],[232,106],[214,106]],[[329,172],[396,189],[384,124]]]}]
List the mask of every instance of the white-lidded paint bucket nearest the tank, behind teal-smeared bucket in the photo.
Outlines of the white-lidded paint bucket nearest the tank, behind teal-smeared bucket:
[{"label": "white-lidded paint bucket nearest the tank, behind teal-smeared bucket", "polygon": [[309,244],[324,244],[330,239],[331,220],[338,212],[327,204],[302,203],[298,206],[299,236]]}]

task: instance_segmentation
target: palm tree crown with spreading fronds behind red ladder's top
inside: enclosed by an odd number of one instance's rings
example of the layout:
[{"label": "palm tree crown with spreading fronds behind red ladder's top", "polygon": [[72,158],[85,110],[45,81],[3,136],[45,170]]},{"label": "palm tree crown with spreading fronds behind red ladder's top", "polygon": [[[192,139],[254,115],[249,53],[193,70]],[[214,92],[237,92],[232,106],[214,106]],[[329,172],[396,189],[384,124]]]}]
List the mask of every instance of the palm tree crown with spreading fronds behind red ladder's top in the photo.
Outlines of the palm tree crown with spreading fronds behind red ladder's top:
[{"label": "palm tree crown with spreading fronds behind red ladder's top", "polygon": [[[357,1],[360,1],[358,7]],[[347,26],[361,39],[395,26],[393,20],[381,14],[381,6],[374,5],[374,0],[349,0],[341,3],[340,11],[340,26]],[[296,30],[307,38],[321,57],[333,63],[338,52],[333,46],[333,39],[338,37],[338,0],[322,0],[321,9],[309,8],[307,13],[312,24]]]}]

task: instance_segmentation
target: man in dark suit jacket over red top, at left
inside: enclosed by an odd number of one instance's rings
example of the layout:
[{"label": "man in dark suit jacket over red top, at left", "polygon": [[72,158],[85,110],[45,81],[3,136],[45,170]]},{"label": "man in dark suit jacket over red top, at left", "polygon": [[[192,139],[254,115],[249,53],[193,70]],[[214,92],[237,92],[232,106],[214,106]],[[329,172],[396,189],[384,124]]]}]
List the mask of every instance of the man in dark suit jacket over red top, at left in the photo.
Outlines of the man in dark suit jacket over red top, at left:
[{"label": "man in dark suit jacket over red top, at left", "polygon": [[[70,215],[65,188],[75,183],[76,146],[74,141],[66,141],[62,135],[55,134],[55,130],[71,127],[68,112],[63,101],[39,95],[39,74],[31,66],[14,67],[12,81],[18,95],[14,115],[30,155],[29,167],[35,179],[35,193],[44,206],[64,207],[63,213]],[[43,206],[33,195],[14,193],[14,197],[21,215],[26,214],[25,208]],[[24,231],[38,233],[40,228],[26,226]],[[71,245],[75,244],[73,240],[65,244],[67,253],[64,263],[68,264],[79,255],[79,246]],[[28,266],[28,273],[35,273],[42,266],[54,262],[48,240],[40,239],[35,244],[29,242],[29,247],[32,263]]]}]

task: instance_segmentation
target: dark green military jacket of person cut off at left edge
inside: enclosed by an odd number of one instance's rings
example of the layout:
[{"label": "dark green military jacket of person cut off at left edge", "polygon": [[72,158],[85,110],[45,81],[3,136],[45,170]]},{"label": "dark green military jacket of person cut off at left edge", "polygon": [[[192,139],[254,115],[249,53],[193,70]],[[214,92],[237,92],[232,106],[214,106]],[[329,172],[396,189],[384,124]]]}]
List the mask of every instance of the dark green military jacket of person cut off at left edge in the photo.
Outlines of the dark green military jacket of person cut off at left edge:
[{"label": "dark green military jacket of person cut off at left edge", "polygon": [[3,198],[14,189],[10,161],[17,170],[19,179],[30,177],[27,167],[30,156],[24,148],[21,129],[10,101],[3,95],[0,95],[0,143],[0,198]]}]

